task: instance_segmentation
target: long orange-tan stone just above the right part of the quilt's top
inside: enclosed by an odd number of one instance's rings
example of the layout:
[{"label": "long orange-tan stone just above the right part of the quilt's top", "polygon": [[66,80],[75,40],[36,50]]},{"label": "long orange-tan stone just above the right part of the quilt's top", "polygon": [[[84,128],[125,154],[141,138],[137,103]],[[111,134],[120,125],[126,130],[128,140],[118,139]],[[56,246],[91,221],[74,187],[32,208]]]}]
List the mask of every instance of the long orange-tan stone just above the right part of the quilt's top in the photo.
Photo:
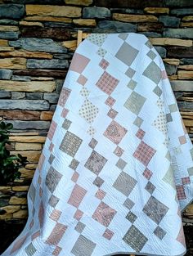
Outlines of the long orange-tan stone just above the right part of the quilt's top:
[{"label": "long orange-tan stone just above the right part of the quilt's top", "polygon": [[123,14],[123,13],[114,13],[114,20],[125,21],[125,22],[156,22],[158,18],[151,15],[140,15],[140,14]]}]

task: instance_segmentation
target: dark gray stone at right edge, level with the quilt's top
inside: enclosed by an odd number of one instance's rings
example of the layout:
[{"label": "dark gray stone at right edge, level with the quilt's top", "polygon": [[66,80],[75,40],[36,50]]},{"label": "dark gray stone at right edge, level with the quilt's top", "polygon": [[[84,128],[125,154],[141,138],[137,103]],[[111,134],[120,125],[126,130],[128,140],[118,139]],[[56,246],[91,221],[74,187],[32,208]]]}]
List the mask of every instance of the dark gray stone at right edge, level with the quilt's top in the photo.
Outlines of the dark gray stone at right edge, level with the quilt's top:
[{"label": "dark gray stone at right edge, level with the quilt's top", "polygon": [[193,38],[193,28],[187,29],[164,29],[165,38]]}]

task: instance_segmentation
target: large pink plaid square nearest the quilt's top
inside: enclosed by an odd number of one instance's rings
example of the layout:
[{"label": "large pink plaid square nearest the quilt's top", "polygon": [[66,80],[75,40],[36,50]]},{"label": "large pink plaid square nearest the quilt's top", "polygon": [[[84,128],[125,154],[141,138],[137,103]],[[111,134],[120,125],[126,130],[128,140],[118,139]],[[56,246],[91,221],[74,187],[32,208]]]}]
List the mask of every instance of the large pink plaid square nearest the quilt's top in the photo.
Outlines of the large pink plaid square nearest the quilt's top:
[{"label": "large pink plaid square nearest the quilt's top", "polygon": [[118,79],[115,79],[112,75],[106,71],[101,75],[101,78],[97,81],[96,86],[103,92],[110,95],[119,83]]}]

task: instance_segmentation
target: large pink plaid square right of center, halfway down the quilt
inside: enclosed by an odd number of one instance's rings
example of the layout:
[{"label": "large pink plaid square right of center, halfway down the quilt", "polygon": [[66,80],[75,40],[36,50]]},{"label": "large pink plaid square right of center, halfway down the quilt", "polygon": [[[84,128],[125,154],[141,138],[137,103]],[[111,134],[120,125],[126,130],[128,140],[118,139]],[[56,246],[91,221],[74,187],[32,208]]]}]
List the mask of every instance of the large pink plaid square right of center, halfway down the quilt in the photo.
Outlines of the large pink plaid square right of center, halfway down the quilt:
[{"label": "large pink plaid square right of center, halfway down the quilt", "polygon": [[141,141],[137,150],[133,153],[133,156],[137,158],[142,164],[147,165],[150,162],[150,159],[155,155],[156,150],[151,146],[146,144],[144,141]]}]

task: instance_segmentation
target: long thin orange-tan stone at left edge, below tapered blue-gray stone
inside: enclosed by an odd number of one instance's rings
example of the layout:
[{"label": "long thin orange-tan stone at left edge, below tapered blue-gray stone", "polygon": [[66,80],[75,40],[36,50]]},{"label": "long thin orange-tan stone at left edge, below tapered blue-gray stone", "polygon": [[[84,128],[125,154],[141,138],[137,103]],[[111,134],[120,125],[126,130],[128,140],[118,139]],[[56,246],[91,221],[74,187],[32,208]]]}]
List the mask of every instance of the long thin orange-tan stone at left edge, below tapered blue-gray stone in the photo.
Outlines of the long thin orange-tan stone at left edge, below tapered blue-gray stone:
[{"label": "long thin orange-tan stone at left edge, below tapered blue-gray stone", "polygon": [[[11,51],[14,50],[14,47],[10,47],[10,48],[11,48]],[[1,52],[0,50],[0,56],[4,58],[5,57],[25,57],[25,58],[36,58],[36,59],[52,59],[53,57],[52,54],[47,52],[29,52],[25,50],[18,50],[18,51],[16,50],[13,52],[6,52],[6,51]]]}]

